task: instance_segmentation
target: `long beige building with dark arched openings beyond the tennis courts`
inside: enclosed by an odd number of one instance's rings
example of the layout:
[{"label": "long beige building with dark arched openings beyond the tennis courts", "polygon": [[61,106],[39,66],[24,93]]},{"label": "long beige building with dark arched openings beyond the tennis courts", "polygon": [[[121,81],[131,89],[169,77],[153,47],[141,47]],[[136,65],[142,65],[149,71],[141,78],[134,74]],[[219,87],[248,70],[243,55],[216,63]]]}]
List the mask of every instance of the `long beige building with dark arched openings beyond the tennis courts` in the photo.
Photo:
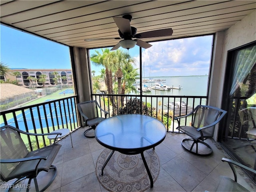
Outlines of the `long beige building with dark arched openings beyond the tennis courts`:
[{"label": "long beige building with dark arched openings beyond the tennis courts", "polygon": [[[20,76],[12,75],[14,72],[20,72]],[[58,74],[55,76],[54,72]],[[19,86],[23,87],[34,87],[40,88],[43,86],[42,82],[39,81],[40,75],[46,75],[45,87],[55,86],[57,78],[57,84],[60,86],[72,86],[73,85],[73,77],[72,71],[70,69],[25,69],[25,68],[16,68],[11,69],[10,74],[7,74],[6,77],[1,76],[1,80],[10,79],[17,80]],[[35,81],[30,81],[28,77],[36,78]]]}]

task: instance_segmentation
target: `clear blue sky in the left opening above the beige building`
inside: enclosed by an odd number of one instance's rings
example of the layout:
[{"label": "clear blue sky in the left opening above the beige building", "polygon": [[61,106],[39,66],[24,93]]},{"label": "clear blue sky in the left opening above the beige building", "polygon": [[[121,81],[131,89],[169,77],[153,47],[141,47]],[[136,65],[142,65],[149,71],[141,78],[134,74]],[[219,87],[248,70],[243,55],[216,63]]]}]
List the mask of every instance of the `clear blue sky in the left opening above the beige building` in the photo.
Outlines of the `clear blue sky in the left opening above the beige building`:
[{"label": "clear blue sky in the left opening above the beige building", "polygon": [[0,58],[9,68],[71,69],[68,46],[0,25]]}]

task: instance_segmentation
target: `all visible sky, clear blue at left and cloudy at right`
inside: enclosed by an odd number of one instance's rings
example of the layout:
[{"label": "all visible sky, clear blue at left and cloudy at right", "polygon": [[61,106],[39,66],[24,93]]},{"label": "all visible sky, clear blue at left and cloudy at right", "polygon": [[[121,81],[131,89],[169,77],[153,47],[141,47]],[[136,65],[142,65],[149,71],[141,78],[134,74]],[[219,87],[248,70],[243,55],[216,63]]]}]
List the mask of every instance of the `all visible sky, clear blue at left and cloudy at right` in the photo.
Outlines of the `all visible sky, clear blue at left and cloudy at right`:
[{"label": "all visible sky, clear blue at left and cloudy at right", "polygon": [[[150,44],[152,47],[142,49],[145,77],[208,75],[212,35]],[[90,50],[90,55],[94,52]],[[139,47],[128,52],[136,58],[135,68],[139,68]],[[0,61],[9,68],[71,69],[68,46],[3,25],[0,25]],[[100,67],[91,66],[95,75],[99,75]]]}]

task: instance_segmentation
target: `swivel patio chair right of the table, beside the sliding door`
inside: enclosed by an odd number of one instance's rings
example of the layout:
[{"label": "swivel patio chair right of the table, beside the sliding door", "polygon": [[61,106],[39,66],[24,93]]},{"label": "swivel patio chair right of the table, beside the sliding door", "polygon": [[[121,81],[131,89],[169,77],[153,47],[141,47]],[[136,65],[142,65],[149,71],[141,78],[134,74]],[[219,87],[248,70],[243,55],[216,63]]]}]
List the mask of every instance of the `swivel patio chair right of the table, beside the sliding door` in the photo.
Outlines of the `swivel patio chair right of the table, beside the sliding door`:
[{"label": "swivel patio chair right of the table, beside the sliding door", "polygon": [[[174,117],[174,120],[178,121],[178,127],[176,129],[190,136],[190,138],[182,140],[182,147],[192,154],[200,156],[208,156],[212,154],[212,148],[204,142],[204,140],[213,137],[215,125],[220,122],[225,114],[226,111],[222,109],[212,106],[198,105],[189,114]],[[188,120],[190,117],[192,121],[191,126],[180,126],[181,118]],[[200,149],[198,149],[198,146],[200,146]]]}]

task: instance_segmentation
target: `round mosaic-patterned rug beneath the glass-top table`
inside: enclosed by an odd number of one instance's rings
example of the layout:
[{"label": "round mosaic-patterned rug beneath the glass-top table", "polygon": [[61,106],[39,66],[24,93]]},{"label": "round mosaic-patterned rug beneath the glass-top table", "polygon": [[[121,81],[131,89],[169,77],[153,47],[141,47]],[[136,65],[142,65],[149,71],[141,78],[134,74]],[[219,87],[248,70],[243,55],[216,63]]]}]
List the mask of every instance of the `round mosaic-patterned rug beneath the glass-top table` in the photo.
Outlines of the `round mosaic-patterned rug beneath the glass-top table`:
[{"label": "round mosaic-patterned rug beneath the glass-top table", "polygon": [[[115,151],[101,175],[101,168],[112,150],[105,149],[99,156],[96,164],[96,176],[100,184],[108,191],[113,192],[142,192],[150,188],[148,173],[141,155],[125,155]],[[159,172],[160,163],[153,149],[144,151],[144,156],[153,181]]]}]

